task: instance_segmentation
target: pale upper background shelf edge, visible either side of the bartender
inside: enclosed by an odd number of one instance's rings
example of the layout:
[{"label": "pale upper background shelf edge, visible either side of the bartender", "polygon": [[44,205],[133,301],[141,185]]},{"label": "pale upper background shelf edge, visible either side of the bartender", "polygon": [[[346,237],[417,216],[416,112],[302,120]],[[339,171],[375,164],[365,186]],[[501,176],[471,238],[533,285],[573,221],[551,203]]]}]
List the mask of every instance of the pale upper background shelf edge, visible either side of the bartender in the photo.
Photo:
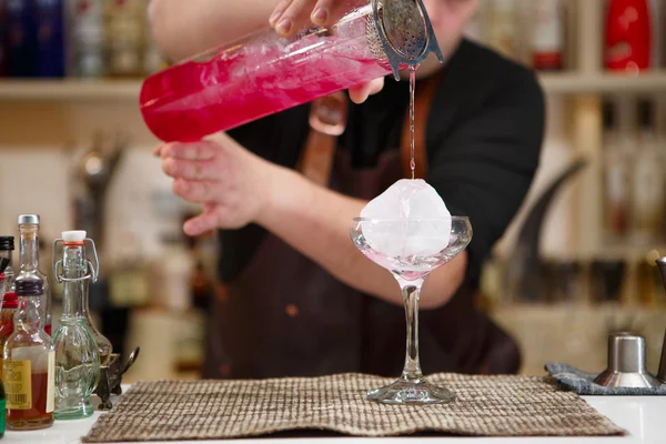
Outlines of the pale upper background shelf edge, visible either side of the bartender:
[{"label": "pale upper background shelf edge, visible either side of the bartender", "polygon": [[[552,94],[666,93],[666,71],[629,77],[603,73],[539,73]],[[0,80],[0,101],[132,101],[139,98],[141,80]]]}]

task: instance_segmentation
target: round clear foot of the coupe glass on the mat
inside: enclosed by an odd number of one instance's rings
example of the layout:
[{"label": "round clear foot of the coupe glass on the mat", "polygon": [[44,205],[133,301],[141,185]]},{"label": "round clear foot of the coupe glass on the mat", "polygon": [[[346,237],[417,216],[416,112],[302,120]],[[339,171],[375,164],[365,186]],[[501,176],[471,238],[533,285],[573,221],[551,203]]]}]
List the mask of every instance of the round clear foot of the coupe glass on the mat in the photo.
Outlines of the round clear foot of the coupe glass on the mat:
[{"label": "round clear foot of the coupe glass on the mat", "polygon": [[455,401],[455,394],[422,377],[414,381],[397,380],[375,389],[367,393],[367,400],[384,404],[445,404]]}]

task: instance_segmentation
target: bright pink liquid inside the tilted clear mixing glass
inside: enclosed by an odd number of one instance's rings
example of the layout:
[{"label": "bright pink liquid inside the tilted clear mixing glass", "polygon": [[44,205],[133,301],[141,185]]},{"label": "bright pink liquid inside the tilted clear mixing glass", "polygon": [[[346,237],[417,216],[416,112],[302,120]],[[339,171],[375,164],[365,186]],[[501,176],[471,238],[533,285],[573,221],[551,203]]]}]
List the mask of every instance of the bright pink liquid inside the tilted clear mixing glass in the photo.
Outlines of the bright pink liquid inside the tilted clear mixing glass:
[{"label": "bright pink liquid inside the tilted clear mixing glass", "polygon": [[362,38],[306,36],[284,48],[245,46],[149,77],[143,119],[155,137],[190,142],[391,73]]}]

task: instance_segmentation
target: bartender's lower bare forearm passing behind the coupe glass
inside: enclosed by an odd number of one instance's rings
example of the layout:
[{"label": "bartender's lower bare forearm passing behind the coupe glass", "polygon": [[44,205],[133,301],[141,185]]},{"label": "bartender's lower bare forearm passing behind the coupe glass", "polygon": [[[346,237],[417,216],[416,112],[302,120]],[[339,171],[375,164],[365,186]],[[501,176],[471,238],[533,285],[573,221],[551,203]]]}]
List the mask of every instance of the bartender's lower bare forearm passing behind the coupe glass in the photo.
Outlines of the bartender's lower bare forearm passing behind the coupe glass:
[{"label": "bartender's lower bare forearm passing behind the coupe glass", "polygon": [[[317,186],[291,170],[278,169],[274,175],[279,186],[272,186],[274,192],[258,222],[340,281],[402,305],[395,279],[359,252],[350,239],[352,219],[366,202]],[[466,253],[433,272],[425,281],[421,305],[444,305],[462,284],[465,269]]]}]

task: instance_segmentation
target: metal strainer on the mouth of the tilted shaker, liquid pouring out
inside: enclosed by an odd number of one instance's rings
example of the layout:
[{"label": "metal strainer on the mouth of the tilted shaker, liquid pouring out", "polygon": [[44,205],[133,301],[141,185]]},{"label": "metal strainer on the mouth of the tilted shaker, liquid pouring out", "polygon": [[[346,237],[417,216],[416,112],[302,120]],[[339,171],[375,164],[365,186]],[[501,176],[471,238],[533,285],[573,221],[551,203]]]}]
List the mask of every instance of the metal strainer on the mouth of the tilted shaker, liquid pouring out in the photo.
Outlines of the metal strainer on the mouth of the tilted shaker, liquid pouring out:
[{"label": "metal strainer on the mouth of the tilted shaker, liquid pouring out", "polygon": [[434,52],[444,62],[422,0],[372,0],[369,40],[372,52],[389,61],[395,80],[401,65],[417,65]]}]

